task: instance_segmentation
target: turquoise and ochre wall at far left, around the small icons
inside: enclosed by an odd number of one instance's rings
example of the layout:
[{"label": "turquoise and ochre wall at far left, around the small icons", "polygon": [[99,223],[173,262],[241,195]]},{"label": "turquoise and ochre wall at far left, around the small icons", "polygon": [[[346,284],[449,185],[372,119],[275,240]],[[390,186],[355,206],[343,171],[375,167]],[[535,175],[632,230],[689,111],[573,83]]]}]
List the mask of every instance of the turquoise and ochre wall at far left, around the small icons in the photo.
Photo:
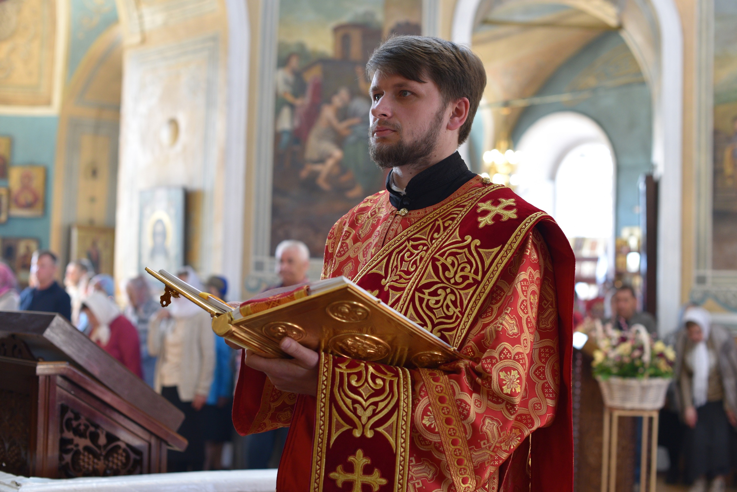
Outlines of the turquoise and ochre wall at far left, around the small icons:
[{"label": "turquoise and ochre wall at far left, around the small icons", "polygon": [[[66,131],[66,119],[60,118],[61,108],[80,61],[99,35],[116,22],[116,10],[111,0],[36,3],[8,1],[3,5],[4,9],[17,7],[18,17],[10,23],[12,29],[0,32],[0,57],[26,75],[4,77],[0,82],[0,135],[11,139],[10,166],[41,165],[46,169],[43,211],[40,217],[9,217],[0,224],[0,237],[9,241],[34,239],[39,247],[57,250],[52,238],[52,215],[57,198],[55,180],[63,178],[57,170],[58,136]],[[35,16],[33,12],[42,15]],[[15,59],[19,51],[9,48],[21,42],[30,56]],[[32,66],[39,70],[29,70]],[[27,90],[32,87],[38,90]],[[21,94],[21,89],[35,96],[29,99]],[[113,159],[115,154],[111,155]],[[7,180],[0,180],[0,186],[7,186]],[[10,257],[6,261],[13,263]]]}]

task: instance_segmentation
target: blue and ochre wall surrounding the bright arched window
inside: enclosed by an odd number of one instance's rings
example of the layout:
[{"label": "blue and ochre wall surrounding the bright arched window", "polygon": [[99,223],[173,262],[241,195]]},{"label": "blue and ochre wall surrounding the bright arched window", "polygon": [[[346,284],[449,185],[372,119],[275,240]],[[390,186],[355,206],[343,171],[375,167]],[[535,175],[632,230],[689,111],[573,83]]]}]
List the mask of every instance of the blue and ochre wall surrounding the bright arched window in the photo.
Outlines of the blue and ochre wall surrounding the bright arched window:
[{"label": "blue and ochre wall surrounding the bright arched window", "polygon": [[517,142],[531,124],[557,111],[583,113],[601,125],[617,163],[615,231],[619,235],[623,227],[640,225],[638,180],[653,170],[652,102],[635,58],[618,33],[607,32],[563,63],[536,95],[580,91],[592,83],[617,85],[586,99],[526,108],[511,139]]}]

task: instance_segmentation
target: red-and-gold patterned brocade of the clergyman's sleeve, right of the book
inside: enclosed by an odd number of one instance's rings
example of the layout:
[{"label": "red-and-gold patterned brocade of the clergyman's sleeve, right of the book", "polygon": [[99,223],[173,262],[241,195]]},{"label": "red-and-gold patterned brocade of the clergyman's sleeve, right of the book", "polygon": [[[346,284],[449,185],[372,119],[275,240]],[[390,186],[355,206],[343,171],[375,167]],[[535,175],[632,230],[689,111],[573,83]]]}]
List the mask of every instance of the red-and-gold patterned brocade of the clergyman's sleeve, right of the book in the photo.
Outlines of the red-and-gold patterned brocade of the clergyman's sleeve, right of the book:
[{"label": "red-and-gold patterned brocade of the clergyman's sleeve, right of the book", "polygon": [[[479,320],[481,326],[474,327],[477,338],[464,346],[464,352],[472,355],[478,365],[464,378],[448,378],[453,390],[450,393],[455,393],[458,415],[467,425],[465,432],[477,480],[488,490],[494,490],[492,484],[498,487],[493,477],[496,467],[534,429],[553,421],[558,394],[554,331],[557,318],[553,284],[548,284],[553,272],[548,263],[547,247],[539,233],[532,231],[519,252],[509,261],[489,294]],[[551,292],[546,292],[548,289]],[[546,296],[552,296],[547,303]],[[537,321],[534,320],[536,313]],[[548,318],[555,321],[542,331],[540,326]],[[514,334],[506,330],[505,323],[509,324],[510,320],[517,326]],[[465,369],[456,370],[464,373]],[[517,371],[519,379],[513,377],[510,381],[513,371]],[[430,406],[431,385],[425,378],[422,380],[425,384],[419,387],[413,410],[416,445],[413,457],[431,457],[433,463],[442,463],[441,469],[444,469],[451,458],[444,451],[444,443],[440,442],[438,426],[442,423],[436,421],[437,412]],[[519,389],[514,387],[515,380]],[[504,391],[505,382],[509,393]],[[525,389],[525,384],[529,389]],[[411,475],[411,481],[413,479]],[[442,481],[442,485],[441,481],[433,482],[433,488],[447,491],[450,480]]]}]

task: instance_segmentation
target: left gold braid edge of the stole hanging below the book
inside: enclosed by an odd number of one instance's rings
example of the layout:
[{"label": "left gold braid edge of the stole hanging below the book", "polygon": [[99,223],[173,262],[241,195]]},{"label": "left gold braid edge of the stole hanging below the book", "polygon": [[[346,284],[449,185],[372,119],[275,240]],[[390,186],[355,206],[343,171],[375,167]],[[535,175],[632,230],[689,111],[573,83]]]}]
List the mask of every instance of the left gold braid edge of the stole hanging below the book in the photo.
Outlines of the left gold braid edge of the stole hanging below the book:
[{"label": "left gold braid edge of the stole hanging below the book", "polygon": [[315,415],[315,437],[312,438],[312,477],[310,492],[321,492],[325,479],[325,452],[329,442],[330,379],[332,377],[332,356],[320,353],[318,362],[317,413]]}]

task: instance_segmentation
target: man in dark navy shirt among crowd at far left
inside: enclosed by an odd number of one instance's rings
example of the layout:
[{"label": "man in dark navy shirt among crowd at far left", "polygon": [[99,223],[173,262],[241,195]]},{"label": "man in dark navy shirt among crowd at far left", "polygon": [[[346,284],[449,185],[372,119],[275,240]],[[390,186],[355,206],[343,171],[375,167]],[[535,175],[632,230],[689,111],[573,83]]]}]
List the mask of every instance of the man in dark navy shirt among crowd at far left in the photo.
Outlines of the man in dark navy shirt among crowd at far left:
[{"label": "man in dark navy shirt among crowd at far left", "polygon": [[35,278],[35,285],[21,292],[18,309],[57,312],[67,320],[71,320],[71,300],[69,294],[55,280],[57,269],[58,260],[51,251],[41,250],[33,253],[31,276]]}]

